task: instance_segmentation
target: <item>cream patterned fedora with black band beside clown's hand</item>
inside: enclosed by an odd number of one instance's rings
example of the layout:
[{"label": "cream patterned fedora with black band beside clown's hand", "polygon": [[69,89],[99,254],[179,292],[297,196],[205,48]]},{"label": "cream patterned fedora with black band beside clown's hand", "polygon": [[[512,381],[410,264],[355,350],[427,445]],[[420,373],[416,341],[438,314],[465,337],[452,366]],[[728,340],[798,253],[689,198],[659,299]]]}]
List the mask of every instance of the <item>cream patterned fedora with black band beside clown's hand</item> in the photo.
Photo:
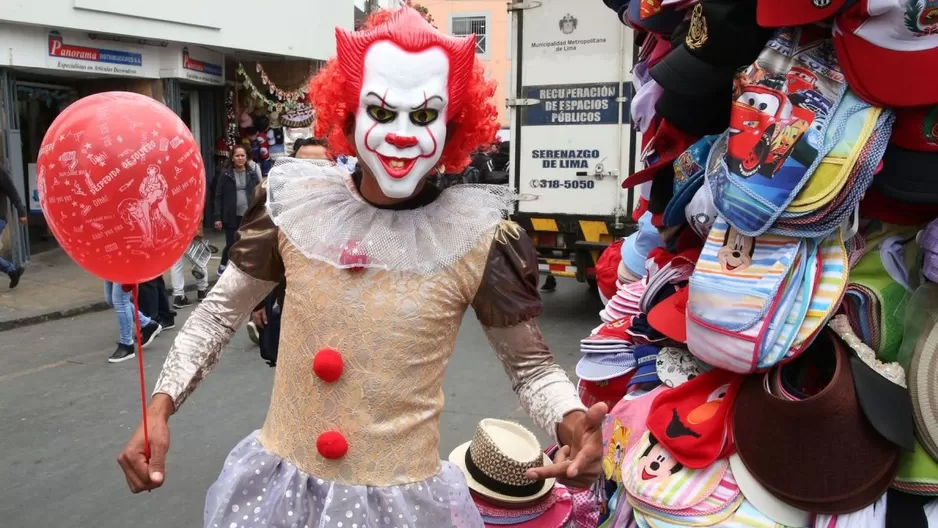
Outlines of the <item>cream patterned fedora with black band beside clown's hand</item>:
[{"label": "cream patterned fedora with black band beside clown's hand", "polygon": [[466,476],[469,489],[502,504],[534,502],[554,487],[555,479],[529,480],[529,469],[552,464],[534,433],[514,422],[486,418],[472,441],[449,454],[449,461]]}]

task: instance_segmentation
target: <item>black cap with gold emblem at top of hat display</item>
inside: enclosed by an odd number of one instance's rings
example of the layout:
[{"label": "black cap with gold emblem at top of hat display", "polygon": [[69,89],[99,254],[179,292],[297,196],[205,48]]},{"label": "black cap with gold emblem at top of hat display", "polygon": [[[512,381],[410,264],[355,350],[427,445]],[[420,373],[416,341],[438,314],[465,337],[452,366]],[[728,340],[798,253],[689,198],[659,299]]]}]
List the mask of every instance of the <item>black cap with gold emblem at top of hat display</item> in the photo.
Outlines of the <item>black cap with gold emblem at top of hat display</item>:
[{"label": "black cap with gold emblem at top of hat display", "polygon": [[736,70],[755,62],[774,32],[756,24],[755,0],[700,0],[651,76],[685,95],[728,90]]}]

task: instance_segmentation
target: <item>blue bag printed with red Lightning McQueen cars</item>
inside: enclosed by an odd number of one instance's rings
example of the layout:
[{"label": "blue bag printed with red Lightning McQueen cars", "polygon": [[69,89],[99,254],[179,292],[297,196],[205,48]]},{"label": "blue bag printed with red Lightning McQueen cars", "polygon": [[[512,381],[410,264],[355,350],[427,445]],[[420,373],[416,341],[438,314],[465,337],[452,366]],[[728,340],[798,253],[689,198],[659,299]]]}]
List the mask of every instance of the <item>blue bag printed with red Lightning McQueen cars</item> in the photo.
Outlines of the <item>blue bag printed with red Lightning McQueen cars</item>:
[{"label": "blue bag printed with red Lightning McQueen cars", "polygon": [[737,77],[725,141],[707,183],[720,215],[759,236],[801,191],[828,153],[825,135],[846,90],[829,29],[780,29]]}]

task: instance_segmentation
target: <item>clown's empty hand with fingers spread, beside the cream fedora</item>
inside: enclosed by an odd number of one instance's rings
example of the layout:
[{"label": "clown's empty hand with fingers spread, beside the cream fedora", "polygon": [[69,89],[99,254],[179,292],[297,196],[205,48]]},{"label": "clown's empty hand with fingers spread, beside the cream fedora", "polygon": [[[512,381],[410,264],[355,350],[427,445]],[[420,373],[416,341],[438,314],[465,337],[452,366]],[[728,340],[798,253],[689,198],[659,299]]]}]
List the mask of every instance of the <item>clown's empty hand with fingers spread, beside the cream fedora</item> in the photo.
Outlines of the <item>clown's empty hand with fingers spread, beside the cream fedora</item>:
[{"label": "clown's empty hand with fingers spread, beside the cream fedora", "polygon": [[556,478],[570,488],[590,488],[603,472],[602,424],[609,412],[605,403],[597,403],[587,412],[570,413],[560,425],[568,441],[557,451],[554,464],[530,469],[531,480]]}]

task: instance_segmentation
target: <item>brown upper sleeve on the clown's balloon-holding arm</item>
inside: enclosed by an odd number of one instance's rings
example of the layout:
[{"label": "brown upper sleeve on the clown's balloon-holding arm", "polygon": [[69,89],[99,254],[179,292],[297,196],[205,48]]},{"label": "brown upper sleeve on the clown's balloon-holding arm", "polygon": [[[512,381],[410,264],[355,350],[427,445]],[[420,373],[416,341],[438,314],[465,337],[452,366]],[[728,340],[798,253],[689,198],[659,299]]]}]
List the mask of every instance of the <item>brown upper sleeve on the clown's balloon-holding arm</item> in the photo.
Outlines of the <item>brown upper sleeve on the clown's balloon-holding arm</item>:
[{"label": "brown upper sleeve on the clown's balloon-holding arm", "polygon": [[283,259],[278,249],[278,229],[267,214],[267,181],[254,191],[251,207],[244,213],[238,239],[228,258],[244,273],[255,279],[280,282]]}]

